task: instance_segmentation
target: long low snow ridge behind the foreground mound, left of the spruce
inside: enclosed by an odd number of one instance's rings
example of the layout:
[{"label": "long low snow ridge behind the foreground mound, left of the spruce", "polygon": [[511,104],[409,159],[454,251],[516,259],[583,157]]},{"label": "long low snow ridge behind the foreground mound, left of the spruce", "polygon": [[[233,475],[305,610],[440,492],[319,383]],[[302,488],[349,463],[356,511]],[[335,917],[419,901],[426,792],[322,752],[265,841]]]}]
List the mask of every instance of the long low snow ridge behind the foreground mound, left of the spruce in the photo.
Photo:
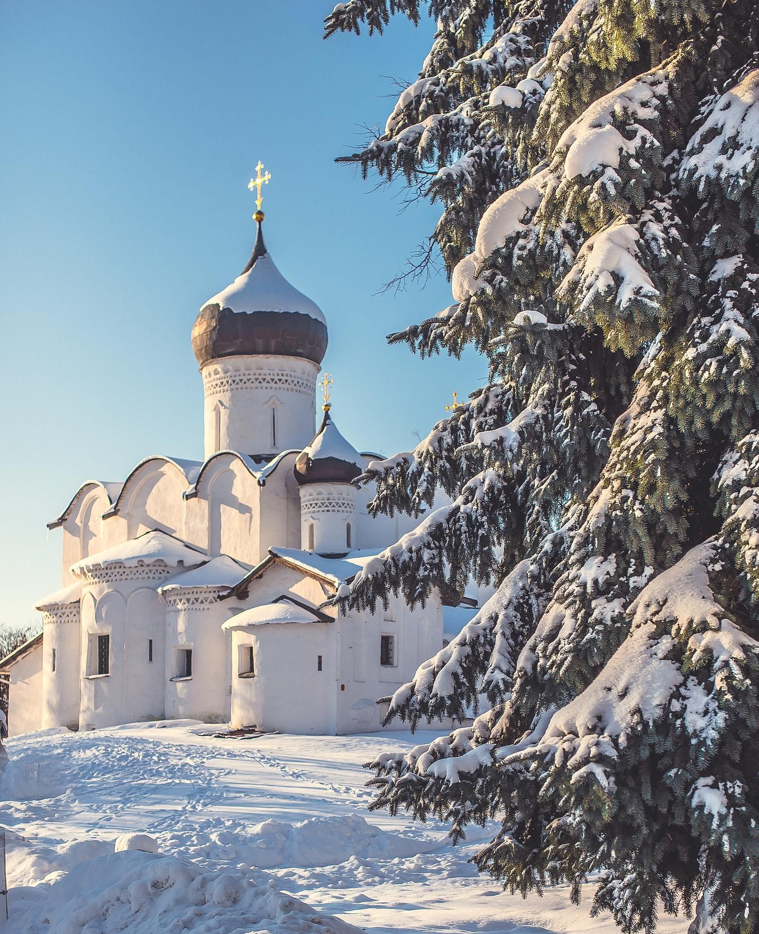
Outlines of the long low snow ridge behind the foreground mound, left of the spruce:
[{"label": "long low snow ridge behind the foreground mound, left of the spruce", "polygon": [[181,850],[189,856],[246,863],[262,870],[293,866],[336,866],[353,856],[360,859],[395,859],[416,856],[436,847],[428,840],[400,837],[368,824],[358,814],[315,817],[301,824],[266,820],[252,828],[225,828],[210,833],[161,836],[165,850]]}]

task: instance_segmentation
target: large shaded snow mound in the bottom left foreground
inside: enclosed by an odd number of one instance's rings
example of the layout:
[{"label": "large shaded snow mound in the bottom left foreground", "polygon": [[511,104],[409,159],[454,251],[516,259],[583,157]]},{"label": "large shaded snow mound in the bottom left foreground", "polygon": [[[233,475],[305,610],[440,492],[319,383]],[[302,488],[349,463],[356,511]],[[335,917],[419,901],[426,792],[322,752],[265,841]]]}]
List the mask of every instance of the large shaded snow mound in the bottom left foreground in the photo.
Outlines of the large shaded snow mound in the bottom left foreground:
[{"label": "large shaded snow mound in the bottom left foreground", "polygon": [[40,897],[27,899],[32,903],[19,918],[21,934],[358,934],[357,927],[283,894],[274,882],[257,884],[239,871],[207,872],[139,850],[80,863],[37,892]]}]

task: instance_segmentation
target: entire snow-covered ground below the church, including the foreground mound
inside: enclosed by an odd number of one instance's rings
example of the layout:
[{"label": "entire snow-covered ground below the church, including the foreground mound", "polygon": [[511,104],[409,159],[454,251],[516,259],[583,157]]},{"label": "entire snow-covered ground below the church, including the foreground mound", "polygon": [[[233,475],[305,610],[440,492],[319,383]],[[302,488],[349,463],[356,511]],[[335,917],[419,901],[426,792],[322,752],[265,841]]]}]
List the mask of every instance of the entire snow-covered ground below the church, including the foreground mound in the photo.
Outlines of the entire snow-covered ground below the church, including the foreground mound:
[{"label": "entire snow-covered ground below the church, including the foreground mound", "polygon": [[[8,743],[10,921],[0,934],[615,930],[589,917],[589,892],[574,908],[566,886],[522,899],[480,877],[467,860],[485,830],[454,848],[444,828],[367,810],[360,763],[432,733],[239,741],[200,729],[140,724]],[[125,833],[148,833],[158,854],[114,853]],[[663,919],[660,930],[686,927]]]}]

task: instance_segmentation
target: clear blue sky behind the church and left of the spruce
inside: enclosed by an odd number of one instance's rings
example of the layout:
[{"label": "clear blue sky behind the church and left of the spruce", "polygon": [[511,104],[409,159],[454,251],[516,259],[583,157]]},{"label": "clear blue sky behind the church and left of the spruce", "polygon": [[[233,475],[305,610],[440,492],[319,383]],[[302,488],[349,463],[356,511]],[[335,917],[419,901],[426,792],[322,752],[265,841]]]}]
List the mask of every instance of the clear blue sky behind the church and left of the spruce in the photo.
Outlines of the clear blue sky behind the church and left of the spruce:
[{"label": "clear blue sky behind the church and left of the spruce", "polygon": [[438,211],[335,156],[384,125],[432,24],[324,42],[330,0],[0,0],[0,622],[60,584],[45,523],[89,478],[199,459],[190,328],[246,262],[260,159],[266,239],[330,328],[335,420],[359,449],[415,444],[474,355],[419,361],[385,335],[450,304],[444,276],[378,294]]}]

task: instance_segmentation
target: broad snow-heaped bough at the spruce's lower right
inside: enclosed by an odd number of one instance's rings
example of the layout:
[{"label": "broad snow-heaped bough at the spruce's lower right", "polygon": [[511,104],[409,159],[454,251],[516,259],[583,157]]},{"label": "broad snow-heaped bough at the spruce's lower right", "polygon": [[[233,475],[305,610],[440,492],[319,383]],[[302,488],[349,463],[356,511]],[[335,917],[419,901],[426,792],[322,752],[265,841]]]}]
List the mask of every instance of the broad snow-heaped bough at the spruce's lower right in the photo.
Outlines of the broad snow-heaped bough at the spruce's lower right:
[{"label": "broad snow-heaped bough at the spruce's lower right", "polygon": [[724,715],[703,691],[729,690],[747,658],[759,660],[759,643],[725,618],[715,600],[710,573],[720,570],[720,561],[712,540],[654,577],[629,606],[625,643],[592,684],[553,715],[540,741],[516,758],[551,757],[574,781],[595,763],[597,781],[609,785],[625,746],[668,711],[693,743],[716,748]]}]

